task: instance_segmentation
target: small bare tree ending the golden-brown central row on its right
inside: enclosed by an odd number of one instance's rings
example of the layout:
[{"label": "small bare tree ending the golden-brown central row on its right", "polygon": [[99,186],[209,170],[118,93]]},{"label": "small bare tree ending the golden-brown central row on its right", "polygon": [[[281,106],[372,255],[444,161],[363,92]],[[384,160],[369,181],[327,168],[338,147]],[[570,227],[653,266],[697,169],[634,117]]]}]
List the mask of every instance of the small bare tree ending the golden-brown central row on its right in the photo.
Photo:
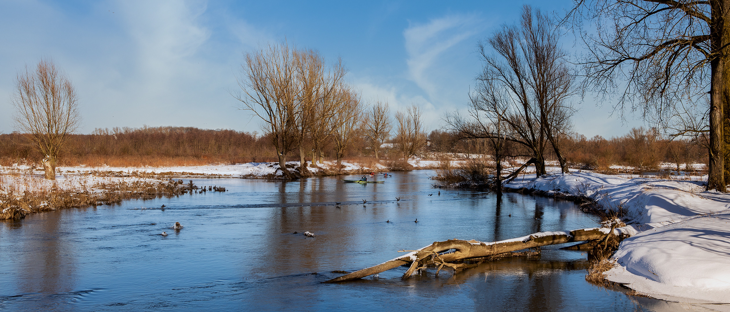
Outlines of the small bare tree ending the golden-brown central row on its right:
[{"label": "small bare tree ending the golden-brown central row on its right", "polygon": [[419,149],[426,145],[426,132],[423,130],[423,122],[420,120],[420,109],[415,104],[408,106],[405,112],[396,112],[396,143],[403,153],[403,160],[415,155]]}]

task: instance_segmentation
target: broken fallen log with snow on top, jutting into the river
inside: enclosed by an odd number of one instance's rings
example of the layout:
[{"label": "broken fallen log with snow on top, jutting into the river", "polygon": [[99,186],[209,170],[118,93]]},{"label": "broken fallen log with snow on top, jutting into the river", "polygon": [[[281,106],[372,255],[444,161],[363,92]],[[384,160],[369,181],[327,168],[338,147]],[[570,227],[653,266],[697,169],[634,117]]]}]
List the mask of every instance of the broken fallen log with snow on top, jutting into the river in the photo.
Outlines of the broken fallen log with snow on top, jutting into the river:
[{"label": "broken fallen log with snow on top, jutting into the river", "polygon": [[[410,263],[410,268],[403,274],[403,279],[408,278],[416,269],[429,265],[439,265],[439,270],[448,262],[463,260],[474,260],[503,254],[505,252],[522,249],[535,248],[539,246],[554,245],[558,243],[572,243],[580,241],[603,240],[609,233],[613,235],[631,235],[634,232],[624,228],[593,227],[588,229],[572,230],[569,232],[542,232],[526,235],[520,238],[512,238],[505,241],[485,243],[482,241],[464,241],[450,239],[447,241],[434,241],[429,246],[410,251],[401,257],[388,260],[380,265],[357,270],[323,283],[336,283],[339,281],[351,281],[357,278],[364,278],[386,270],[398,268],[401,265]],[[451,265],[447,265],[451,266]]]}]

